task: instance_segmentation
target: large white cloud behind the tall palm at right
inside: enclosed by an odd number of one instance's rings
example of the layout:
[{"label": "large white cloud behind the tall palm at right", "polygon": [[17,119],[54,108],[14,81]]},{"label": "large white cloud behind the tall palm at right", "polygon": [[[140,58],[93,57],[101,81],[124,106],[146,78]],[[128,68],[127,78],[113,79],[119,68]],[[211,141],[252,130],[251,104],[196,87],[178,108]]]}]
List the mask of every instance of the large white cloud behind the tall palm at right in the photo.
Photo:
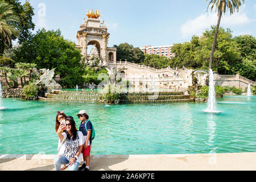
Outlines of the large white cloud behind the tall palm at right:
[{"label": "large white cloud behind the tall palm at right", "polygon": [[[220,26],[230,27],[230,26],[242,26],[253,22],[247,17],[245,13],[245,5],[240,7],[240,11],[232,15],[229,14],[229,11],[221,18]],[[211,25],[217,24],[217,13],[205,13],[195,19],[188,20],[181,26],[181,35],[183,38],[187,38],[192,35],[201,35],[205,29],[209,28]]]}]

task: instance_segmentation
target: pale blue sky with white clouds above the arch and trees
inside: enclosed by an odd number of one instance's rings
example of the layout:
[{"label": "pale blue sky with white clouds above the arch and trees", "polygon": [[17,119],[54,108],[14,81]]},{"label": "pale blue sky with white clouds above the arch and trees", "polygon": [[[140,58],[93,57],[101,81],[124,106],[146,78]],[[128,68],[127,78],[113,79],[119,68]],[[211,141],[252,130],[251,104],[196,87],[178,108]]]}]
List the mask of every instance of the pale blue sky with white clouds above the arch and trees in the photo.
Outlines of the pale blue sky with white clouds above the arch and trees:
[{"label": "pale blue sky with white clouds above the arch and trees", "polygon": [[[21,0],[22,3],[25,0]],[[208,1],[209,2],[209,1]],[[34,32],[41,28],[61,31],[77,43],[76,35],[86,11],[100,11],[110,33],[108,47],[129,43],[134,47],[163,46],[189,42],[217,24],[217,14],[207,11],[206,0],[30,0],[34,7]],[[245,0],[240,10],[222,16],[221,27],[233,36],[256,37],[256,1]]]}]

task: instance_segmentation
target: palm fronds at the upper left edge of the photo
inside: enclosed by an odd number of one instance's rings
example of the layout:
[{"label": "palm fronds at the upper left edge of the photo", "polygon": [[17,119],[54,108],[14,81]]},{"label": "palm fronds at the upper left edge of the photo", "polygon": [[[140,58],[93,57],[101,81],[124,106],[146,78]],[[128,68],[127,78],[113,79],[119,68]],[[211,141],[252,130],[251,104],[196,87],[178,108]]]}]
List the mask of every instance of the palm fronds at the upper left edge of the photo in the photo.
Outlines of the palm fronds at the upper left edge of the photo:
[{"label": "palm fronds at the upper left edge of the photo", "polygon": [[5,44],[11,45],[11,36],[18,36],[19,31],[14,24],[19,23],[19,16],[15,14],[14,6],[0,1],[0,53],[3,53]]}]

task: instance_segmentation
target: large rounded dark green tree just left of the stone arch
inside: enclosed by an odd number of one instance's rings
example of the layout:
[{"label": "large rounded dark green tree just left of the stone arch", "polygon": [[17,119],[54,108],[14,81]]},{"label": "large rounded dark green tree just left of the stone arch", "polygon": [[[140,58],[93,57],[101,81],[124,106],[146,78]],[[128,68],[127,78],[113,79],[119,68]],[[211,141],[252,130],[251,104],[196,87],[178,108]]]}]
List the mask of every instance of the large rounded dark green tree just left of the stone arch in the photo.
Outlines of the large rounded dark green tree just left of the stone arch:
[{"label": "large rounded dark green tree just left of the stone arch", "polygon": [[60,30],[46,31],[43,28],[24,41],[14,53],[18,62],[34,63],[38,69],[56,68],[55,75],[60,74],[63,79],[60,84],[64,87],[83,83],[80,50],[75,49],[75,43],[65,40]]}]

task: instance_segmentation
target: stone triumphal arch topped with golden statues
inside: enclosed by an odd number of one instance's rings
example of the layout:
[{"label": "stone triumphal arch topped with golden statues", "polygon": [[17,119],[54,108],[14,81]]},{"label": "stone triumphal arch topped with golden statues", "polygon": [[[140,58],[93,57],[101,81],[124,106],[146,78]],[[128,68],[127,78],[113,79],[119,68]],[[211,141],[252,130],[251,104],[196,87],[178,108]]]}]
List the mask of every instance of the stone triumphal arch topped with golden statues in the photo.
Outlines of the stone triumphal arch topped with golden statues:
[{"label": "stone triumphal arch topped with golden statues", "polygon": [[111,68],[116,63],[117,49],[114,47],[108,47],[109,33],[108,28],[104,24],[104,20],[98,19],[100,14],[96,10],[94,13],[92,10],[88,12],[87,19],[83,18],[83,22],[80,26],[80,30],[77,32],[77,46],[81,49],[82,55],[86,60],[91,59],[90,53],[88,53],[88,46],[92,45],[96,47],[98,51],[98,57],[103,64]]}]

